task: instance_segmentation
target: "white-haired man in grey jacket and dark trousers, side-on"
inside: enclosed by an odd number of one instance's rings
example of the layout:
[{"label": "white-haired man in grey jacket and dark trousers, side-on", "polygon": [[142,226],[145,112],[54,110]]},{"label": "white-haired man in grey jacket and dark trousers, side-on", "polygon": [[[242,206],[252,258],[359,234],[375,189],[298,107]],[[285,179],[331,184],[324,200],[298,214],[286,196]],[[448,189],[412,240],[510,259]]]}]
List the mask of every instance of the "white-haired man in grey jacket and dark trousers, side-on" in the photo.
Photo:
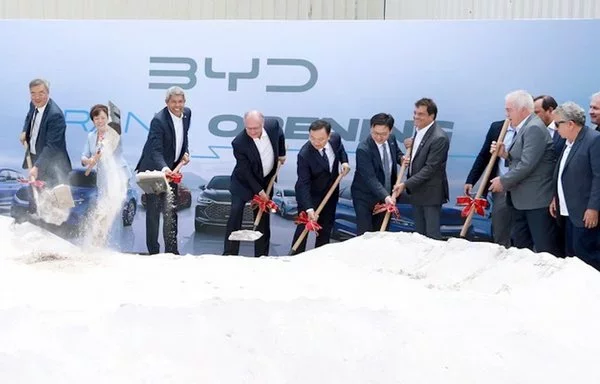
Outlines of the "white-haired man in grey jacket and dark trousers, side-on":
[{"label": "white-haired man in grey jacket and dark trousers, side-on", "polygon": [[[533,97],[522,90],[505,98],[506,116],[517,134],[506,148],[498,144],[498,156],[508,172],[491,181],[490,191],[506,190],[506,203],[514,207],[512,240],[517,248],[562,256],[556,242],[556,223],[548,211],[553,196],[552,173],[556,163],[552,138],[534,113]],[[491,150],[496,149],[492,142]]]}]

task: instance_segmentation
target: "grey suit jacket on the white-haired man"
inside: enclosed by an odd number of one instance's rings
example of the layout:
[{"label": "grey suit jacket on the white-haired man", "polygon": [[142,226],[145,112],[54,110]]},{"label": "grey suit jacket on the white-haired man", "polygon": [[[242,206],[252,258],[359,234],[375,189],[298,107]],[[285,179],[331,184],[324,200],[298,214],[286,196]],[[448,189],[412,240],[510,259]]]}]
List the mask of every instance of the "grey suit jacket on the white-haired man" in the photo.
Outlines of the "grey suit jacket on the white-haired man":
[{"label": "grey suit jacket on the white-haired man", "polygon": [[508,149],[508,172],[500,177],[516,209],[547,208],[552,200],[554,145],[544,122],[534,114],[526,118]]}]

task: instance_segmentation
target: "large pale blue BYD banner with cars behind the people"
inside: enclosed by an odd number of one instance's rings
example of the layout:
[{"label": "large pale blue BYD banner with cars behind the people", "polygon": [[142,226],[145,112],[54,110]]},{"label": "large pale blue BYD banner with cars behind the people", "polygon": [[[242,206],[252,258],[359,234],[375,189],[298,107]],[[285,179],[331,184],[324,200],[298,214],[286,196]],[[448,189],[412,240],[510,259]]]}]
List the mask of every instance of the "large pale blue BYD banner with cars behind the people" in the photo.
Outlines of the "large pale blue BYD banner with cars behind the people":
[{"label": "large pale blue BYD banner with cars behind the people", "polygon": [[[431,97],[438,124],[451,138],[447,206],[459,210],[456,197],[487,129],[504,119],[506,93],[526,89],[587,107],[600,75],[598,57],[582,48],[595,45],[599,27],[596,20],[2,20],[0,168],[23,172],[18,136],[33,78],[50,82],[50,97],[65,113],[74,167],[93,129],[92,105],[111,100],[121,109],[123,149],[133,169],[152,116],[165,106],[166,88],[180,85],[192,110],[192,162],[183,180],[190,191],[183,206],[190,207],[179,213],[180,252],[220,253],[223,231],[198,224],[195,210],[207,183],[231,174],[230,144],[243,129],[245,111],[258,109],[282,123],[289,152],[278,188],[293,190],[297,151],[311,121],[331,121],[354,168],[354,151],[369,135],[372,115],[391,113],[401,143],[412,133],[414,102]],[[145,252],[137,192],[136,217],[121,249]],[[273,254],[287,254],[294,229],[293,196],[281,201],[289,215],[272,224]],[[460,226],[452,220],[442,225]]]}]

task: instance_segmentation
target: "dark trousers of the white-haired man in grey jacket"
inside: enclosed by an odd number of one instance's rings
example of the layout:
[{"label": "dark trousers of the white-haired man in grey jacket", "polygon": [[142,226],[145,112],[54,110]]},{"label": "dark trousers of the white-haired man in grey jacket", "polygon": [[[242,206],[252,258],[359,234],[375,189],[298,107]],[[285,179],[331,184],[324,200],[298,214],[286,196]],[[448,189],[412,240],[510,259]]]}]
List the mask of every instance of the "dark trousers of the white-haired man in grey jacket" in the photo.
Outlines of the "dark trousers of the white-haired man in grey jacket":
[{"label": "dark trousers of the white-haired man in grey jacket", "polygon": [[556,222],[548,208],[514,210],[512,240],[515,247],[560,257],[564,252],[559,248],[557,234]]}]

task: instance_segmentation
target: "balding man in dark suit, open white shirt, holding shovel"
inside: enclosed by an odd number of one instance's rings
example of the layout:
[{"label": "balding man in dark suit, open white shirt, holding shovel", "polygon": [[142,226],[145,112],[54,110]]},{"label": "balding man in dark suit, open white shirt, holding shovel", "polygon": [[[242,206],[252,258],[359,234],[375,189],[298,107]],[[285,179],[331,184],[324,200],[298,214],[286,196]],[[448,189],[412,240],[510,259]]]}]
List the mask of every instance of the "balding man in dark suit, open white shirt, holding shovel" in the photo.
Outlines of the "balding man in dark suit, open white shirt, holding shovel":
[{"label": "balding man in dark suit, open white shirt, holding shovel", "polygon": [[[270,200],[273,191],[267,196],[266,190],[277,171],[277,162],[285,162],[285,137],[279,122],[265,120],[262,113],[250,111],[244,114],[245,129],[231,142],[236,163],[231,174],[231,213],[227,220],[223,255],[237,255],[239,241],[229,240],[229,235],[242,228],[244,206],[254,195]],[[254,210],[254,218],[258,209]],[[269,254],[271,239],[270,215],[263,213],[257,230],[263,235],[254,242],[254,256]]]}]

